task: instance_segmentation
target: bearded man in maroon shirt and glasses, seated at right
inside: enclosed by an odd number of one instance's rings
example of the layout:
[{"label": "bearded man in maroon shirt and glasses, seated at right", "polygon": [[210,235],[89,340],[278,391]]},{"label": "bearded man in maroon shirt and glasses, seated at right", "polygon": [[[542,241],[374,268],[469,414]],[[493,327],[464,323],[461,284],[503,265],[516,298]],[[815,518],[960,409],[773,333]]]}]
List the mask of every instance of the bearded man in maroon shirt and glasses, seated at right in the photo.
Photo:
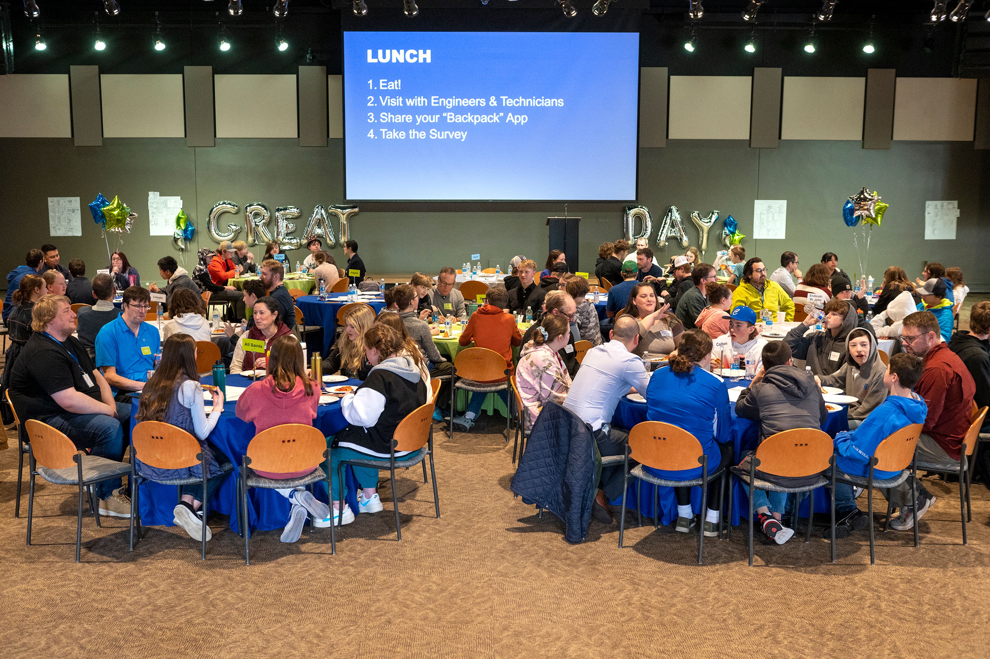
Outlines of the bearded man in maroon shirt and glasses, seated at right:
[{"label": "bearded man in maroon shirt and glasses, seated at right", "polygon": [[[916,312],[904,319],[901,333],[904,350],[925,360],[925,371],[915,387],[928,405],[925,427],[918,437],[916,457],[923,465],[953,467],[959,463],[962,438],[969,428],[976,384],[965,364],[948,344],[941,341],[939,320],[932,312]],[[911,501],[913,476],[885,492],[887,501],[901,510],[901,516],[890,522],[898,530],[914,527],[935,503],[935,496],[918,483],[918,512]]]}]

